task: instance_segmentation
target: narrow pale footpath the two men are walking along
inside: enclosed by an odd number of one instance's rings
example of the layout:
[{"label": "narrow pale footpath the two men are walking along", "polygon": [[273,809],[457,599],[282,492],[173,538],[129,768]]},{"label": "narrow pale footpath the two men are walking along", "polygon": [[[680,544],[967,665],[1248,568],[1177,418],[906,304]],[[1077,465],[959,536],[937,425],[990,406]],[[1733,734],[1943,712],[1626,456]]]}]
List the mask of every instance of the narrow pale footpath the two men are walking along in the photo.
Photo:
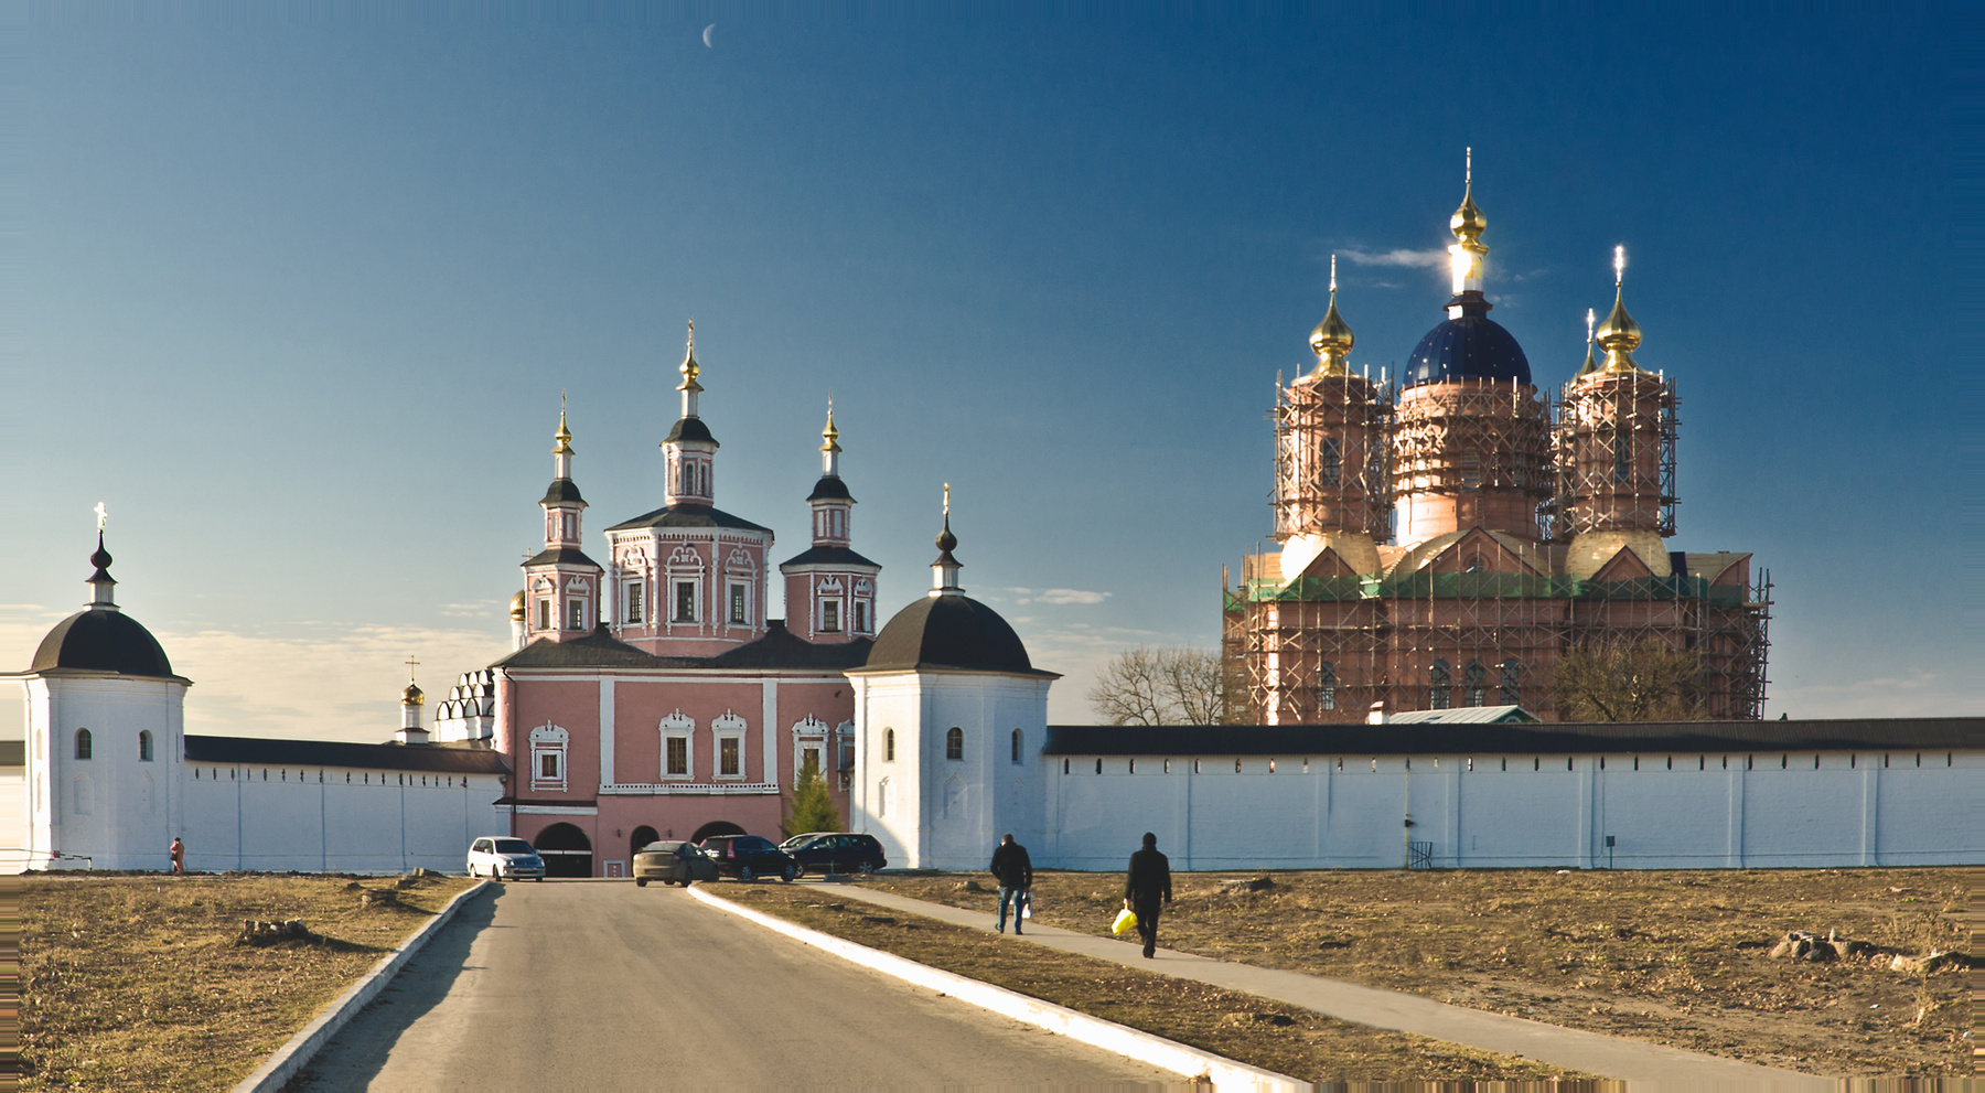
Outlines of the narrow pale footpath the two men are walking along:
[{"label": "narrow pale footpath the two men are walking along", "polygon": [[[828,883],[806,879],[802,883],[832,889],[836,895],[889,907],[909,914],[923,914],[955,926],[992,932],[992,916],[981,911],[963,911],[921,899],[899,897],[863,889],[860,885]],[[1159,928],[1163,936],[1163,926]],[[1135,934],[1131,936],[1135,942]],[[1062,952],[1080,952],[1098,960],[1124,964],[1141,972],[1197,980],[1227,990],[1239,990],[1260,998],[1272,998],[1290,1006],[1314,1010],[1326,1018],[1360,1026],[1384,1028],[1463,1043],[1501,1055],[1521,1055],[1542,1063],[1626,1081],[1636,1089],[1648,1087],[1729,1087],[1729,1089],[1836,1089],[1838,1083],[1735,1059],[1719,1059],[1699,1051],[1663,1047],[1618,1035],[1578,1032],[1560,1026],[1546,1026],[1524,1018],[1469,1010],[1467,1006],[1447,1006],[1417,994],[1382,990],[1344,980],[1328,980],[1302,972],[1282,972],[1274,968],[1251,968],[1227,960],[1211,960],[1189,952],[1159,948],[1157,958],[1145,960],[1137,944],[1118,938],[1080,934],[1056,926],[1028,924],[1018,942],[1042,944]]]}]

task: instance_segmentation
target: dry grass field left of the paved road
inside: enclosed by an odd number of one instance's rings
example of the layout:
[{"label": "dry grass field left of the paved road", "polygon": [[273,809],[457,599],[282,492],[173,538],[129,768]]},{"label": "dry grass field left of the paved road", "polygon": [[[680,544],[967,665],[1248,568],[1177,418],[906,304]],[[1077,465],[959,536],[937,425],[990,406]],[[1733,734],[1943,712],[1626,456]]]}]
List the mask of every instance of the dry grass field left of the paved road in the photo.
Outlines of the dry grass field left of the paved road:
[{"label": "dry grass field left of the paved road", "polygon": [[[22,883],[24,1089],[226,1089],[455,893],[367,909],[351,877],[42,875]],[[318,940],[234,944],[244,918]]]}]

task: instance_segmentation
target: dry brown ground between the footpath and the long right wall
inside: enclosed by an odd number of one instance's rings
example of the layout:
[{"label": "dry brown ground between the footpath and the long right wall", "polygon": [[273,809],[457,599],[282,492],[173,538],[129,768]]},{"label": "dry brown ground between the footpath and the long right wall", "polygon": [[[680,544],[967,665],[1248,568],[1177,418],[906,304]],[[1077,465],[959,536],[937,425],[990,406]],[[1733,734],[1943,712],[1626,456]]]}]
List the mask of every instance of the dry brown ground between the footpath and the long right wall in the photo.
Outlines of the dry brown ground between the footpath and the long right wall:
[{"label": "dry brown ground between the footpath and the long right wall", "polygon": [[[1971,1075],[1965,966],[1981,871],[1181,873],[1167,948],[1409,990],[1499,1014],[1838,1077]],[[1229,881],[1264,879],[1260,891]],[[991,877],[877,877],[877,889],[992,914]],[[1106,932],[1122,873],[1040,873],[1036,914]],[[1870,956],[1775,960],[1788,930]]]}]

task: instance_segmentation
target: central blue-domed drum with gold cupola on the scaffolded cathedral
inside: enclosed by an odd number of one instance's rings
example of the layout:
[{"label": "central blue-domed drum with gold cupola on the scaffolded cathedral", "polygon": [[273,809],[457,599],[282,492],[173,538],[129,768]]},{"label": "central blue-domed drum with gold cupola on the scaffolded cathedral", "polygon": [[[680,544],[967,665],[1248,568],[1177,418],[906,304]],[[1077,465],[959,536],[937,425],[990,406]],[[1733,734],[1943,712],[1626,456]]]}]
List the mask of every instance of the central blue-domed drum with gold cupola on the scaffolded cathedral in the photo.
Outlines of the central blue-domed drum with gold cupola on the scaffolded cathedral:
[{"label": "central blue-domed drum with gold cupola on the scaffolded cathedral", "polygon": [[1522,347],[1489,317],[1489,218],[1475,204],[1473,153],[1449,230],[1447,321],[1419,339],[1399,377],[1391,472],[1399,544],[1469,528],[1534,544],[1536,510],[1554,486],[1548,417]]}]

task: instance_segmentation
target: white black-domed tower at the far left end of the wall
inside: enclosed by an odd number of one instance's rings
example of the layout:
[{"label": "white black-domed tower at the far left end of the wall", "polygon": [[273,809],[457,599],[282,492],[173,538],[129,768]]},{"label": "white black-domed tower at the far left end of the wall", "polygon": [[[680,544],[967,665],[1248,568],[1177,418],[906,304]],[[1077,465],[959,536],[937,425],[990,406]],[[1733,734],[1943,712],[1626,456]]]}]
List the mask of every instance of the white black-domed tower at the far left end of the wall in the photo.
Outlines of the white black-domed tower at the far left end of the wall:
[{"label": "white black-domed tower at the far left end of the wall", "polygon": [[117,607],[101,506],[89,561],[89,607],[8,674],[28,698],[28,869],[167,869],[193,680]]}]

